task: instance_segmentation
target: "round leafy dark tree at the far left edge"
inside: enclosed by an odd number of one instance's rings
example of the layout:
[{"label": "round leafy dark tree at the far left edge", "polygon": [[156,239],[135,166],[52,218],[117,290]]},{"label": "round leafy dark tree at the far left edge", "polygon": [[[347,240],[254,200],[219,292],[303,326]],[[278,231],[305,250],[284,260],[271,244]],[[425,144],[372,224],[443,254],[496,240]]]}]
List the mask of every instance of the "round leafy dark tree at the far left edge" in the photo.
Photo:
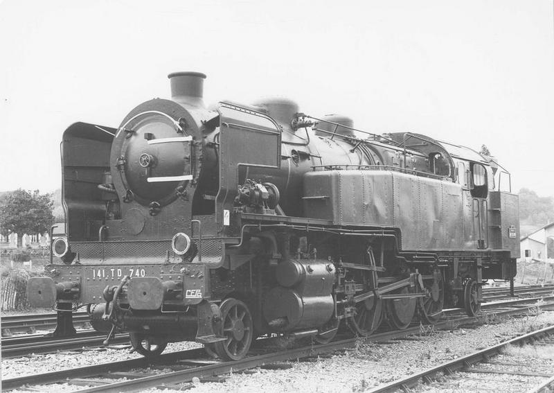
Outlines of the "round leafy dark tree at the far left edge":
[{"label": "round leafy dark tree at the far left edge", "polygon": [[8,236],[17,234],[17,246],[21,246],[24,234],[38,234],[50,229],[54,222],[53,201],[50,194],[41,195],[38,190],[17,189],[0,196],[0,232]]}]

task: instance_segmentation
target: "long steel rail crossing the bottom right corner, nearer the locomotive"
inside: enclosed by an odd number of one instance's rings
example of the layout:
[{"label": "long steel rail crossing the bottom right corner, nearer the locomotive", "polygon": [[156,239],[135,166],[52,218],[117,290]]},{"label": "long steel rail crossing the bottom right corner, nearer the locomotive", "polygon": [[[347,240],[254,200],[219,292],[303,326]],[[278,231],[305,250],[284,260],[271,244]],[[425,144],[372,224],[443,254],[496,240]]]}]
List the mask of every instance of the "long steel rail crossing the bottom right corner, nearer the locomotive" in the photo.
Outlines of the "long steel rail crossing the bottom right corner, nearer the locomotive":
[{"label": "long steel rail crossing the bottom right corner, nearer the locomotive", "polygon": [[553,333],[554,333],[554,326],[548,326],[544,329],[539,329],[531,333],[520,335],[519,337],[512,338],[511,340],[508,340],[505,342],[501,342],[500,344],[493,345],[492,347],[488,347],[481,351],[470,353],[469,355],[462,356],[461,358],[456,358],[449,362],[442,363],[436,367],[432,367],[422,372],[418,372],[410,376],[406,376],[405,378],[399,379],[397,381],[393,381],[391,383],[387,383],[386,385],[376,387],[375,389],[368,390],[368,393],[394,392],[396,390],[405,391],[405,390],[408,390],[410,387],[417,385],[420,379],[423,381],[431,381],[431,379],[435,378],[436,374],[439,374],[439,373],[442,373],[445,375],[453,374],[458,370],[464,369],[465,367],[467,367],[467,365],[472,365],[474,363],[478,363],[483,360],[486,361],[489,356],[494,356],[498,354],[501,349],[507,347],[508,345],[517,344],[520,342],[526,342],[527,340],[531,340],[539,335],[548,335]]}]

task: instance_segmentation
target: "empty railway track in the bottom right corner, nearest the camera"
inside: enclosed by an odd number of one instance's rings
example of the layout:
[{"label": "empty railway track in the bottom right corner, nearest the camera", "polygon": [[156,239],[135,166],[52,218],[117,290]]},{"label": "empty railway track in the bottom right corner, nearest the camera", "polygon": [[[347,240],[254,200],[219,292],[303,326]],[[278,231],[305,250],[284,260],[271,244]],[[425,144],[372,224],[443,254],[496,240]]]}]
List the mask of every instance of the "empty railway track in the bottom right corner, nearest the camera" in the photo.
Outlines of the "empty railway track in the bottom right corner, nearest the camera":
[{"label": "empty railway track in the bottom right corner, nearest the camera", "polygon": [[[510,351],[510,347],[548,345],[554,348],[554,326],[548,326],[531,333],[512,338],[467,356],[454,359],[423,372],[407,376],[386,385],[370,390],[370,393],[406,392],[422,383],[436,390],[453,386],[460,391],[490,390],[497,392],[551,392],[554,388],[554,360],[542,362],[528,356],[518,356],[520,351]],[[533,350],[524,351],[533,353]],[[546,363],[546,364],[545,364]],[[537,369],[538,368],[538,369]],[[499,376],[519,376],[521,378],[499,378]],[[517,385],[519,382],[519,385]],[[488,385],[488,386],[487,386]]]}]

